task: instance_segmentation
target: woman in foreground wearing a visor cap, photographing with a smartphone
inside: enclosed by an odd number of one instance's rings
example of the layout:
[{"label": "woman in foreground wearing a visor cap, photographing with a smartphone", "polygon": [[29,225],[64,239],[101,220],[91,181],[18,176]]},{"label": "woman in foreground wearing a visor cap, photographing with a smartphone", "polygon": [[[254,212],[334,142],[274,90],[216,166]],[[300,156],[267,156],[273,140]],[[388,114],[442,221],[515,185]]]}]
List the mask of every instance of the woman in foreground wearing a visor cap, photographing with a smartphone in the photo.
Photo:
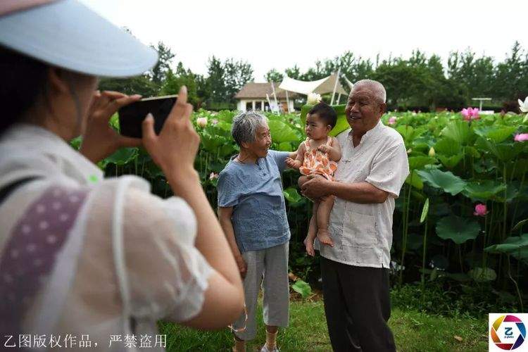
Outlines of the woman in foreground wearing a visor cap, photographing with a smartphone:
[{"label": "woman in foreground wearing a visor cap, photographing with a smartphone", "polygon": [[[139,75],[156,59],[75,0],[0,3],[0,336],[89,335],[92,348],[123,350],[127,335],[139,347],[157,334],[157,320],[215,329],[243,310],[193,167],[187,89],[160,134],[146,118],[142,139],[108,127],[140,96],[94,93],[98,76]],[[79,153],[68,141],[80,134]],[[97,161],[139,145],[175,197],[153,196],[139,177],[103,179]]]}]

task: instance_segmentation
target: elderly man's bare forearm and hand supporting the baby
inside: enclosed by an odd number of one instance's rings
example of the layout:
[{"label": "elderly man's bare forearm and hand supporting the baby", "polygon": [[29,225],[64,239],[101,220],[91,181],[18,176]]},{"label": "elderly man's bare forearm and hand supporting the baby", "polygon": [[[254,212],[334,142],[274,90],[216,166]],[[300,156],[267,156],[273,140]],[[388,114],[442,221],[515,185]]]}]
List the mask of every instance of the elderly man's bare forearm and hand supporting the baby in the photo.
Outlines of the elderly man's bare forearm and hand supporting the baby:
[{"label": "elderly man's bare forearm and hand supporting the baby", "polygon": [[363,204],[384,203],[389,196],[389,192],[372,186],[368,182],[332,182],[324,177],[312,177],[302,185],[301,192],[310,199],[332,195],[345,201]]}]

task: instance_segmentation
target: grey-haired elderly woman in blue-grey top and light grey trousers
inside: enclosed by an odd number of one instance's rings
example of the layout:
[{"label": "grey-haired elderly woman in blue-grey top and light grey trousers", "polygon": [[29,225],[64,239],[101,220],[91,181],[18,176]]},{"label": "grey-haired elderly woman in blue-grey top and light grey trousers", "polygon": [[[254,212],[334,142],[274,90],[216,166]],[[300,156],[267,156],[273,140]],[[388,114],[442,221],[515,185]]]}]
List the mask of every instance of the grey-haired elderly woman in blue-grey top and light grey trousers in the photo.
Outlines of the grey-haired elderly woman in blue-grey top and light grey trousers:
[{"label": "grey-haired elderly woman in blue-grey top and light grey trousers", "polygon": [[255,337],[255,311],[262,280],[266,325],[262,351],[278,351],[277,327],[286,327],[289,318],[290,233],[281,172],[286,158],[294,158],[296,153],[269,150],[271,137],[266,118],[253,111],[233,119],[232,136],[240,153],[232,157],[218,177],[218,215],[244,277],[247,320],[244,315],[234,324],[234,351],[245,351],[245,341]]}]

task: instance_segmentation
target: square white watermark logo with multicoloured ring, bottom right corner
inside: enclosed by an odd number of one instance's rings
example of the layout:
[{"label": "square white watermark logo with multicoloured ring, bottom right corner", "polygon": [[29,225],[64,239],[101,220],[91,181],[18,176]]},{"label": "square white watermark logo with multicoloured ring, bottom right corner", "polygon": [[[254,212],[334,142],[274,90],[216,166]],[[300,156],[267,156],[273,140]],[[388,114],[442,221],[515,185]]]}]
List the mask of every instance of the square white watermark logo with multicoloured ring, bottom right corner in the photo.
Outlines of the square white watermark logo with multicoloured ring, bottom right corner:
[{"label": "square white watermark logo with multicoloured ring, bottom right corner", "polygon": [[489,314],[489,351],[528,351],[528,314]]}]

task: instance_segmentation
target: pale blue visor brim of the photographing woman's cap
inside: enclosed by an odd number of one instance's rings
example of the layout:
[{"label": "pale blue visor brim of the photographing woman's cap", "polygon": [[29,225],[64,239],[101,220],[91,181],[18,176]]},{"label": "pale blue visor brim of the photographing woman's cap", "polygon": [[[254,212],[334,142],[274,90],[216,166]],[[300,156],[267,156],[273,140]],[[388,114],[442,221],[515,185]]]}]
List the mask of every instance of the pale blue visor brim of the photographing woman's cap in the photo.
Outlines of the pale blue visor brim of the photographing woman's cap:
[{"label": "pale blue visor brim of the photographing woman's cap", "polygon": [[76,0],[1,15],[0,45],[50,65],[103,77],[141,75],[158,61],[154,49]]}]

